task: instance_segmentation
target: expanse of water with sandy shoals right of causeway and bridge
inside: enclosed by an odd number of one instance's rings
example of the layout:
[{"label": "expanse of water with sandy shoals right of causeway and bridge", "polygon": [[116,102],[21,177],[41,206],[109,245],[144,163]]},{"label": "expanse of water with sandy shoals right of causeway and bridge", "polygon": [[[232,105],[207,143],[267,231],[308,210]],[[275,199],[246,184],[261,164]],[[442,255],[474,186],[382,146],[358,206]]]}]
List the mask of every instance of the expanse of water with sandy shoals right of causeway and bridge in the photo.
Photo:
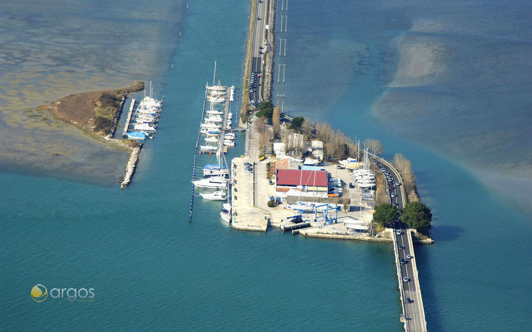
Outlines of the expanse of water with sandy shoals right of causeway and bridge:
[{"label": "expanse of water with sandy shoals right of causeway and bridge", "polygon": [[532,70],[522,27],[531,7],[506,5],[291,1],[288,13],[277,9],[289,22],[287,33],[277,26],[288,44],[277,56],[286,81],[274,85],[284,110],[377,138],[385,156],[412,160],[434,214],[436,244],[416,249],[429,331],[527,324]]}]

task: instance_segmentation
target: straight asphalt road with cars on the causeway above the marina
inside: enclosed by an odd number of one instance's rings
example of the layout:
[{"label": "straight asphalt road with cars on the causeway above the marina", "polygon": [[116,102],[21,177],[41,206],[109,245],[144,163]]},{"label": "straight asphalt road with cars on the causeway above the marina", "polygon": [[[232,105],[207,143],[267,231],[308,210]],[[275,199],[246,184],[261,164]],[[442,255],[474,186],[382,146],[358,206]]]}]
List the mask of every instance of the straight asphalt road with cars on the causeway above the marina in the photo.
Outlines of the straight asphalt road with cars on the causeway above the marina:
[{"label": "straight asphalt road with cars on the causeway above the marina", "polygon": [[[262,74],[263,74],[263,56],[264,51],[266,51],[266,45],[264,42],[264,34],[266,27],[266,1],[264,0],[255,0],[257,1],[257,15],[255,17],[255,29],[253,31],[253,41],[252,41],[252,54],[251,54],[251,72],[249,84],[249,96],[250,102],[255,101],[259,103],[261,101],[262,90]],[[255,74],[254,74],[255,72]],[[260,75],[257,78],[257,74]],[[255,83],[252,83],[252,78],[255,77]],[[253,90],[253,92],[252,92]]]}]

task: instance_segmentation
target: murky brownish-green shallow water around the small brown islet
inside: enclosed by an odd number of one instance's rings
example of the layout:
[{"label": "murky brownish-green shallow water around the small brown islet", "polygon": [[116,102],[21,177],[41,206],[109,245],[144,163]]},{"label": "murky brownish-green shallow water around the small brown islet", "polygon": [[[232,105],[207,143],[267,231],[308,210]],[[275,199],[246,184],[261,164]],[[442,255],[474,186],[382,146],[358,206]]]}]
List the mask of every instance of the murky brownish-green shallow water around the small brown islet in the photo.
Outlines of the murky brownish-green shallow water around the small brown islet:
[{"label": "murky brownish-green shallow water around the small brown islet", "polygon": [[[179,10],[177,10],[179,8]],[[0,12],[0,169],[118,181],[127,153],[35,110],[68,94],[122,88],[166,72],[182,1],[16,1]],[[88,153],[87,151],[91,151]]]}]

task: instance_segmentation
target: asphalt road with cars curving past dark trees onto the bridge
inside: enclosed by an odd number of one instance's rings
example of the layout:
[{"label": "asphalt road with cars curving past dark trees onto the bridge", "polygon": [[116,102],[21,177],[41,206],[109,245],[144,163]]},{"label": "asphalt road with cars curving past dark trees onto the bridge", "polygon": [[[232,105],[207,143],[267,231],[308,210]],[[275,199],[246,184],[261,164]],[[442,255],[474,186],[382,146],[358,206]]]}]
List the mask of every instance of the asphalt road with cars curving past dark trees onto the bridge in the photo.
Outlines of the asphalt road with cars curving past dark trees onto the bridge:
[{"label": "asphalt road with cars curving past dark trees onto the bridge", "polygon": [[[383,174],[387,172],[387,174],[385,174],[385,177],[388,174],[392,177],[392,182],[394,184],[393,188],[388,188],[388,197],[391,204],[397,204],[397,208],[399,210],[402,210],[403,198],[401,188],[396,185],[396,183],[400,181],[398,179],[397,174],[395,174],[394,170],[384,163],[377,163],[377,166],[381,169],[381,172]],[[384,168],[385,171],[382,171],[382,168]],[[388,182],[389,180],[386,179],[386,181]],[[403,184],[401,183],[400,185]],[[392,197],[392,193],[394,197]],[[422,315],[423,307],[421,303],[421,292],[418,292],[417,290],[417,285],[415,283],[415,278],[417,278],[417,274],[414,271],[414,266],[412,264],[412,258],[414,257],[414,248],[412,242],[408,239],[407,227],[408,226],[400,220],[394,222],[394,236],[397,241],[398,259],[401,260],[402,258],[405,260],[405,264],[399,265],[401,270],[401,283],[403,283],[403,301],[405,304],[406,316],[405,318],[408,324],[409,331],[426,331],[424,315]],[[398,234],[397,231],[400,231],[401,233]],[[408,258],[408,255],[412,256],[412,258]],[[407,278],[407,281],[403,280],[404,277]],[[412,303],[408,303],[406,301],[407,298],[410,298],[412,300]]]}]

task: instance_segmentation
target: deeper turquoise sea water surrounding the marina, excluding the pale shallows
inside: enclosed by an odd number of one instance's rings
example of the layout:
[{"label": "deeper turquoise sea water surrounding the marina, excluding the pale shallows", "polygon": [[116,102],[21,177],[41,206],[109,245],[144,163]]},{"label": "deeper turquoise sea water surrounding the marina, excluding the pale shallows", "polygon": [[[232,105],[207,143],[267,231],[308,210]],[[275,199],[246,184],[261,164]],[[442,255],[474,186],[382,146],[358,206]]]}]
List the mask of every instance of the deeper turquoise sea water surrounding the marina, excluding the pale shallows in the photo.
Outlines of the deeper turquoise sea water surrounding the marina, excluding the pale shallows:
[{"label": "deeper turquoise sea water surrounding the marina, excluding the pale shallows", "polygon": [[[412,160],[435,215],[437,243],[416,248],[430,331],[526,329],[530,222],[455,160],[376,121],[374,103],[400,62],[390,45],[412,13],[371,3],[291,1],[285,109]],[[236,0],[173,9],[185,13],[183,35],[157,65],[176,66],[154,78],[161,123],[127,190],[0,174],[2,331],[402,331],[391,246],[234,231],[200,197],[188,222],[204,84],[215,59],[224,84],[241,84],[249,9]],[[38,283],[94,288],[95,301],[38,304],[29,296]]]}]

